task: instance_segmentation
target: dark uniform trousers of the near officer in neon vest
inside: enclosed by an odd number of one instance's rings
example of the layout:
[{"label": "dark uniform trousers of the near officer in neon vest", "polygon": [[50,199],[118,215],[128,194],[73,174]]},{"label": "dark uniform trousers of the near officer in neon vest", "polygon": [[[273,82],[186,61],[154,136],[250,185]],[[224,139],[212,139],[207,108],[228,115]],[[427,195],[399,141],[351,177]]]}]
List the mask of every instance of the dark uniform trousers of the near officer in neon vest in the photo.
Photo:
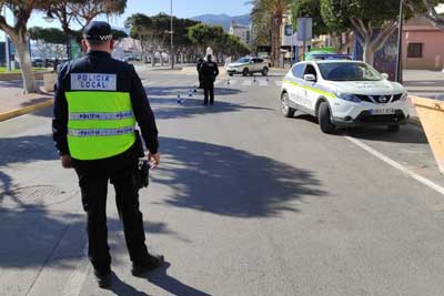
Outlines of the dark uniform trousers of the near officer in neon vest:
[{"label": "dark uniform trousers of the near officer in neon vest", "polygon": [[115,190],[115,203],[123,222],[130,258],[132,262],[142,262],[148,257],[143,218],[139,211],[139,188],[135,188],[134,184],[138,164],[134,155],[130,150],[114,161],[74,161],[82,204],[88,215],[88,255],[97,271],[108,272],[111,265],[107,227],[107,194],[110,181]]}]

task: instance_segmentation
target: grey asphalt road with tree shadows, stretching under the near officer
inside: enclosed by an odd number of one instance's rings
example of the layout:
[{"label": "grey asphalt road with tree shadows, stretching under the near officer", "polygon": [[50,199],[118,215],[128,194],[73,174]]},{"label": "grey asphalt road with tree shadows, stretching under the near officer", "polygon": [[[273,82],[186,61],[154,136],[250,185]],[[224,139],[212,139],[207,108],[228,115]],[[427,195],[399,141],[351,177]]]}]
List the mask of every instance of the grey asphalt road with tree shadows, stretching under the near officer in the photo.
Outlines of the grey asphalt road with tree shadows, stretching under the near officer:
[{"label": "grey asphalt road with tree shadows, stretching under the near officer", "polygon": [[421,129],[325,135],[281,115],[279,74],[222,78],[204,108],[176,103],[192,74],[140,72],[163,157],[140,203],[168,264],[131,276],[111,190],[113,285],[97,287],[47,110],[0,123],[0,295],[444,294],[444,181]]}]

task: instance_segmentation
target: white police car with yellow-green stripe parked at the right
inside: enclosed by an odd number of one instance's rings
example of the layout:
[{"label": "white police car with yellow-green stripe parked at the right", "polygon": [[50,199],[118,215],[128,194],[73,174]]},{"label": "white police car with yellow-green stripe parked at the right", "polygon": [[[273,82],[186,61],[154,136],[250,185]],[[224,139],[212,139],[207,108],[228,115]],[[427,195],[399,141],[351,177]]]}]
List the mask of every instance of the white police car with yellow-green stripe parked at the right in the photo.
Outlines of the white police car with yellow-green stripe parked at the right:
[{"label": "white police car with yellow-green stripe parked at the right", "polygon": [[397,132],[410,116],[406,90],[360,61],[296,63],[282,83],[281,103],[287,118],[296,110],[316,116],[324,133],[355,125]]}]

